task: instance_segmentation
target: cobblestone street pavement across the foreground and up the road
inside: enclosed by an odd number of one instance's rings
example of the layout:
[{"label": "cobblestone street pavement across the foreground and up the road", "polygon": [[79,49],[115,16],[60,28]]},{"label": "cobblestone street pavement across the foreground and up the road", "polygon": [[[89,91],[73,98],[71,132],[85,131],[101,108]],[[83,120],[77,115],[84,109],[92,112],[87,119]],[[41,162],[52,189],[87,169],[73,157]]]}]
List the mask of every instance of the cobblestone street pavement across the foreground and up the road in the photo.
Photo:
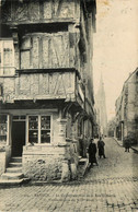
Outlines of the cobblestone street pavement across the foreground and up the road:
[{"label": "cobblestone street pavement across the foreground and up the road", "polygon": [[138,154],[108,138],[105,154],[80,181],[0,189],[0,212],[138,212]]}]

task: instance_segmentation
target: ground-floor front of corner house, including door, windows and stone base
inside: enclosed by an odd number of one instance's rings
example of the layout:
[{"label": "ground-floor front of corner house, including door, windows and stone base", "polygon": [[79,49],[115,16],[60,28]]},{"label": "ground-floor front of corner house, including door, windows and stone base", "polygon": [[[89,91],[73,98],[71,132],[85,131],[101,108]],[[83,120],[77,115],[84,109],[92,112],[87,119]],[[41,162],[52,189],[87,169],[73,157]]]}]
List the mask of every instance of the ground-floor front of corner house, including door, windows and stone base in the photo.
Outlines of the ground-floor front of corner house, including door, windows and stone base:
[{"label": "ground-floor front of corner house, including door, windows and stone base", "polygon": [[[31,179],[69,179],[70,163],[77,165],[78,153],[74,144],[66,140],[67,120],[59,118],[58,109],[11,109],[3,113],[0,115],[0,142],[10,149],[5,161],[22,157],[22,172]],[[73,148],[71,155],[70,148]]]}]

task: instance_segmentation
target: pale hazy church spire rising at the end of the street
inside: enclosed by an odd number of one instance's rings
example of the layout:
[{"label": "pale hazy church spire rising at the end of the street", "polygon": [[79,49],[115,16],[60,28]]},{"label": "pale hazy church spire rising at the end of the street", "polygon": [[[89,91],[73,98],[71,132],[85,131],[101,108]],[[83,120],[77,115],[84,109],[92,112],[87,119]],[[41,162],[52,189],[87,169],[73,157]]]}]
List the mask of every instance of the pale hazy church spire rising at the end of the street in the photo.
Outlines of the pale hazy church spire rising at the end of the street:
[{"label": "pale hazy church spire rising at the end of the street", "polygon": [[103,83],[102,75],[100,80],[100,86],[95,95],[95,108],[96,108],[96,115],[99,117],[96,119],[100,125],[100,133],[106,136],[107,134],[107,114],[106,114],[106,99],[105,99],[105,91],[104,91],[104,83]]}]

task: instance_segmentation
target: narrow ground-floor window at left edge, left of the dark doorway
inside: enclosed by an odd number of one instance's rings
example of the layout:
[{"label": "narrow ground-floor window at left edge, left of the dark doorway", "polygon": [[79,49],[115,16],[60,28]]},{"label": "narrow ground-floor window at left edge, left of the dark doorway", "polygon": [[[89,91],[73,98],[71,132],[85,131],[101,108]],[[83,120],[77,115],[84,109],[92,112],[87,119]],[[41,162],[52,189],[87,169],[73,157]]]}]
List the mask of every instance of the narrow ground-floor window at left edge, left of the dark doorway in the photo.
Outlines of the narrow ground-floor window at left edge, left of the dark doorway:
[{"label": "narrow ground-floor window at left edge, left of the dark doorway", "polygon": [[7,143],[7,115],[0,115],[0,143]]}]

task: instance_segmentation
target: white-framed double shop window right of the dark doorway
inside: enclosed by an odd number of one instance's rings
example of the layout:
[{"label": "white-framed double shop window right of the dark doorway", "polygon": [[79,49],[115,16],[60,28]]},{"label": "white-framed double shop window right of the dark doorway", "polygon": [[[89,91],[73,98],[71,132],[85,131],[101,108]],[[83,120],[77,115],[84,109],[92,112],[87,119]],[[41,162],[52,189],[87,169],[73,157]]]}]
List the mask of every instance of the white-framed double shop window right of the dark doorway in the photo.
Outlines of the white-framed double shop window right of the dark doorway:
[{"label": "white-framed double shop window right of the dark doorway", "polygon": [[50,116],[28,116],[28,142],[50,143]]}]

